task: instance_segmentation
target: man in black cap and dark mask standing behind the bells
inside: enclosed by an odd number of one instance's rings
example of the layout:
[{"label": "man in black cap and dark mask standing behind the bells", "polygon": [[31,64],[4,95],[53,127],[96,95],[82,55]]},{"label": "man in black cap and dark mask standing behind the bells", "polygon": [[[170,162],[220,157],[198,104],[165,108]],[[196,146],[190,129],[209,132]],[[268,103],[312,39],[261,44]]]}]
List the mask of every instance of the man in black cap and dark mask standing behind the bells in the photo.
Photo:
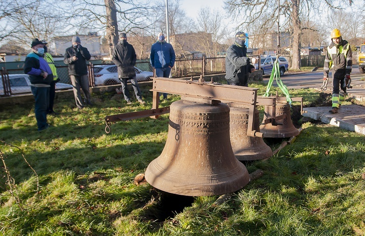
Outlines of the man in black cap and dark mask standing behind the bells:
[{"label": "man in black cap and dark mask standing behind the bells", "polygon": [[[250,58],[247,57],[246,38],[245,33],[237,32],[235,43],[227,49],[225,78],[228,84],[247,87],[248,73],[255,71],[255,67],[250,64]],[[256,63],[255,58],[252,63]]]}]

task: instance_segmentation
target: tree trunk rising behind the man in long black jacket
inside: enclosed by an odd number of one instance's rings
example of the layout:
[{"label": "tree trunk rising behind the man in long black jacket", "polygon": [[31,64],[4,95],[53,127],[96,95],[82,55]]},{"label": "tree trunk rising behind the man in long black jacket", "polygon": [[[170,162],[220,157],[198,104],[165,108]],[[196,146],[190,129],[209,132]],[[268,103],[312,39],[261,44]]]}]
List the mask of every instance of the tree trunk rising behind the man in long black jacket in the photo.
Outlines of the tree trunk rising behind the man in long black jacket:
[{"label": "tree trunk rising behind the man in long black jacket", "polygon": [[107,35],[109,45],[109,55],[111,59],[111,53],[113,51],[114,45],[118,43],[118,22],[117,22],[117,11],[115,8],[114,0],[104,0],[107,14]]}]

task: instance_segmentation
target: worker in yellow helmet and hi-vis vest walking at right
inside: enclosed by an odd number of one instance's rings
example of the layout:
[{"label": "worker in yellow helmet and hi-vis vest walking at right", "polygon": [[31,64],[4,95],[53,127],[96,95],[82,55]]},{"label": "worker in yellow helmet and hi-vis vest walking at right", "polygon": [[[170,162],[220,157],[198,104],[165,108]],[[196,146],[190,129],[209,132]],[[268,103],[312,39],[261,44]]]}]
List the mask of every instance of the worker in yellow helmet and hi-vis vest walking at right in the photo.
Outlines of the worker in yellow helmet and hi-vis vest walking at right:
[{"label": "worker in yellow helmet and hi-vis vest walking at right", "polygon": [[[323,80],[328,80],[329,69],[332,69],[333,91],[332,109],[330,113],[338,113],[341,103],[345,100],[346,89],[349,87],[352,69],[352,51],[346,40],[342,39],[338,29],[331,32],[331,44],[327,47],[325,64],[323,65]],[[340,92],[340,87],[343,92]]]}]

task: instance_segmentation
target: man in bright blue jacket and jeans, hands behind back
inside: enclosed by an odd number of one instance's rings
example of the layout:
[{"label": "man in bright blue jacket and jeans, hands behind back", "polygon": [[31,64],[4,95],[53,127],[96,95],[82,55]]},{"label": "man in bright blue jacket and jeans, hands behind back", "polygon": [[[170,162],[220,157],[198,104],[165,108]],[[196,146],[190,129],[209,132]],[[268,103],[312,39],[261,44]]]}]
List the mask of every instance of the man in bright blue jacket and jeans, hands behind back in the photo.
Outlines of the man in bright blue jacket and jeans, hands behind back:
[{"label": "man in bright blue jacket and jeans, hands behind back", "polygon": [[[156,70],[157,77],[168,78],[171,68],[175,64],[175,51],[172,45],[165,41],[165,36],[160,33],[157,36],[157,42],[152,44],[149,60],[153,68]],[[167,99],[167,94],[163,93],[164,100]]]}]

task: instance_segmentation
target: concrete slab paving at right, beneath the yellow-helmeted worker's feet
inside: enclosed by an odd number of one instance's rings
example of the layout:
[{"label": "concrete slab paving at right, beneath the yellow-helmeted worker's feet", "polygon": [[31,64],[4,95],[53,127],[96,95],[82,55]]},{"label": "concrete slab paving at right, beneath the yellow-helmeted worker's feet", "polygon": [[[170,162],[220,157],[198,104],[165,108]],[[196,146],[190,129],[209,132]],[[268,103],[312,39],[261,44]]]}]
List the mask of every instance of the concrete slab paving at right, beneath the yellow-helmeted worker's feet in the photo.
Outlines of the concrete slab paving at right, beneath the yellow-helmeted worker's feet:
[{"label": "concrete slab paving at right, beneath the yellow-helmeted worker's feet", "polygon": [[303,116],[349,131],[365,135],[365,107],[355,104],[343,105],[338,113],[329,113],[331,107],[306,107]]}]

